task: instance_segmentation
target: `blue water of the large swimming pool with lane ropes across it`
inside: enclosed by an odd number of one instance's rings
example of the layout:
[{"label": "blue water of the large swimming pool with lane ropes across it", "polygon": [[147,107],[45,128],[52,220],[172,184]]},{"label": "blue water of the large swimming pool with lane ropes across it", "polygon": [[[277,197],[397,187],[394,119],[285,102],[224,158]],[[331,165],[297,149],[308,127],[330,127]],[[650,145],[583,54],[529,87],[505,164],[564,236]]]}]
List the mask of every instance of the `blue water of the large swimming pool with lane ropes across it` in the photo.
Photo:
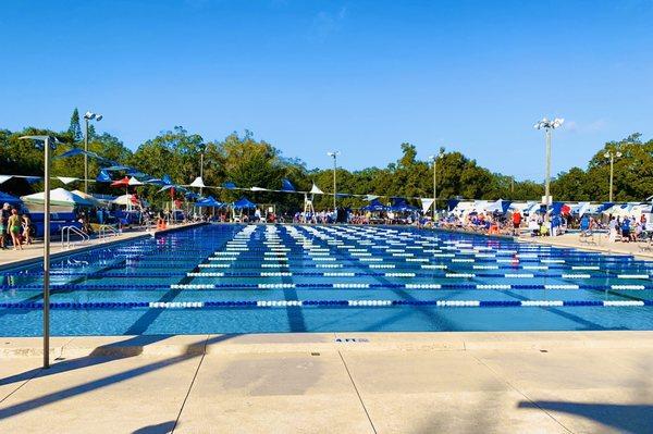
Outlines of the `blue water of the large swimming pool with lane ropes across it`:
[{"label": "blue water of the large swimming pool with lane ropes across it", "polygon": [[[54,335],[653,330],[653,263],[387,226],[205,225],[52,263]],[[40,264],[0,334],[41,334]]]}]

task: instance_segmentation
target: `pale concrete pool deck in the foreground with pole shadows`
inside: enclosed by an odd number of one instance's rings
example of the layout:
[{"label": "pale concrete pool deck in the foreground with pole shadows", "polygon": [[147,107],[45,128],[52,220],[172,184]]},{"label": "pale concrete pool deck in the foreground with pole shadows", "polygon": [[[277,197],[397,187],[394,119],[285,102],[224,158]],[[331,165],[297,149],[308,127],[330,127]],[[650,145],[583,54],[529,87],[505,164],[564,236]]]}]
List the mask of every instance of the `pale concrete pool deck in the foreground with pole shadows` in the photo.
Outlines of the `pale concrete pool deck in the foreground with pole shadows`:
[{"label": "pale concrete pool deck in the foreground with pole shadows", "polygon": [[653,426],[653,332],[0,339],[0,432],[607,433]]}]

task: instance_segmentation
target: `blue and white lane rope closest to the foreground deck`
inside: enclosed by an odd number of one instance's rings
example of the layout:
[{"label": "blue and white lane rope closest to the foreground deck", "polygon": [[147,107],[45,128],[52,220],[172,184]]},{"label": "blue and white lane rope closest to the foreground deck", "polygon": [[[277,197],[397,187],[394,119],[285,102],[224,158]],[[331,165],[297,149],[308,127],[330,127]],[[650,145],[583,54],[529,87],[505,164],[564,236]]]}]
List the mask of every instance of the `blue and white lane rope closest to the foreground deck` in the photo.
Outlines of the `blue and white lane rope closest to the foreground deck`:
[{"label": "blue and white lane rope closest to the foreground deck", "polygon": [[[401,307],[436,308],[551,308],[551,307],[644,307],[653,300],[244,300],[244,301],[102,301],[50,302],[51,309],[201,309],[283,307]],[[0,302],[0,309],[40,310],[42,302]]]}]

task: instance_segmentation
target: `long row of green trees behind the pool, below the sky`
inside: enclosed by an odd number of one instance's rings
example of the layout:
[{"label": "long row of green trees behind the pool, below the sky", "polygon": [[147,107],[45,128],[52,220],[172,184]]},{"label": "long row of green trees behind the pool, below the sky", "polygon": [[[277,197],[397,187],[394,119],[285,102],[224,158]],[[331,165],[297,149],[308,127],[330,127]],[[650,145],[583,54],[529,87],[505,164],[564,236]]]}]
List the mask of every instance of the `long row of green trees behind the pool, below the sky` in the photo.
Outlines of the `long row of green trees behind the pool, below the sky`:
[{"label": "long row of green trees behind the pool, below the sky", "polygon": [[[75,117],[77,122],[75,123]],[[58,133],[28,127],[22,132],[0,129],[0,173],[14,175],[42,175],[42,151],[34,144],[20,140],[28,134],[56,135],[66,145],[54,151],[58,156],[71,146],[78,146],[75,137],[78,113],[75,110],[71,128]],[[79,133],[79,134],[77,134]],[[285,158],[271,144],[257,140],[250,132],[244,135],[233,133],[223,140],[205,141],[198,134],[192,134],[182,126],[165,131],[141,144],[135,152],[110,134],[97,134],[89,129],[89,150],[120,164],[131,165],[156,177],[170,175],[175,183],[189,184],[200,173],[200,156],[204,154],[204,181],[209,186],[220,186],[233,182],[238,187],[261,187],[281,189],[281,179],[288,178],[297,190],[309,190],[315,182],[325,193],[333,191],[333,171],[308,169],[299,159]],[[337,168],[337,191],[355,195],[382,195],[382,201],[390,197],[432,197],[433,164],[417,158],[417,148],[408,142],[401,144],[401,153],[386,168],[368,168],[347,171]],[[542,183],[515,181],[510,176],[492,173],[479,166],[472,159],[460,152],[442,149],[438,160],[439,204],[444,206],[449,198],[539,200],[543,195]],[[642,200],[653,194],[653,140],[642,141],[640,134],[632,134],[619,141],[605,144],[589,161],[587,169],[572,168],[559,173],[552,182],[554,200],[607,200],[609,182],[609,160],[605,153],[621,152],[614,164],[615,200]],[[89,177],[95,178],[100,171],[97,161],[89,159]],[[52,173],[59,176],[82,177],[84,159],[82,156],[54,159]],[[123,175],[116,173],[115,176]],[[54,186],[61,186],[54,182]],[[40,190],[39,184],[29,185],[23,179],[11,179],[2,184],[2,189],[24,195]],[[69,187],[81,187],[73,185]],[[90,183],[91,191],[114,193],[107,184]],[[158,187],[140,187],[143,196],[153,202],[169,197],[158,193]],[[205,189],[215,198],[233,201],[247,196],[259,203],[276,203],[278,210],[300,209],[303,197],[284,193],[239,191],[229,189]],[[360,207],[365,200],[356,197],[338,197],[338,206]],[[412,201],[414,204],[419,204]],[[317,195],[317,209],[333,207],[332,196]]]}]

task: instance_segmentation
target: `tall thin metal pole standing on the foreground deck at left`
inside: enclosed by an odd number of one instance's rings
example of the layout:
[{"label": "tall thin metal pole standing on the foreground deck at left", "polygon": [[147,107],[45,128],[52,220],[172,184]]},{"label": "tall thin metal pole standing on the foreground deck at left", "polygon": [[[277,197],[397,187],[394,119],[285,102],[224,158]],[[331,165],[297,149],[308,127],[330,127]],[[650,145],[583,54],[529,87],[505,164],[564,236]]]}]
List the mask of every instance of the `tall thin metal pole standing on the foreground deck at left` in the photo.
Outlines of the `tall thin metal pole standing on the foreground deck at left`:
[{"label": "tall thin metal pole standing on the foreground deck at left", "polygon": [[51,136],[23,136],[22,140],[44,142],[44,369],[50,368],[50,146]]}]

